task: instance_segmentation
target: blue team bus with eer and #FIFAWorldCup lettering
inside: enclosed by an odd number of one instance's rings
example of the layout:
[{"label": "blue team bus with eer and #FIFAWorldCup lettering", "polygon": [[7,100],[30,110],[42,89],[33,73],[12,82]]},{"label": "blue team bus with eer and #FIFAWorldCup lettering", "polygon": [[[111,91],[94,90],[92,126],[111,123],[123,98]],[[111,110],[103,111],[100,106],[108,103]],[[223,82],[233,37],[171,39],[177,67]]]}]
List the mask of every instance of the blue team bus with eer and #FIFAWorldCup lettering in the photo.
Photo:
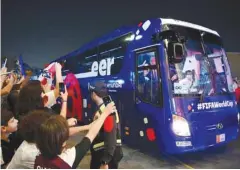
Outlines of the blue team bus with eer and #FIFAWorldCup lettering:
[{"label": "blue team bus with eer and #FIFAWorldCup lettering", "polygon": [[231,71],[214,30],[149,19],[116,29],[56,61],[63,64],[70,89],[69,109],[81,109],[78,118],[84,123],[92,121],[94,112],[89,84],[106,84],[120,113],[124,144],[178,154],[238,137]]}]

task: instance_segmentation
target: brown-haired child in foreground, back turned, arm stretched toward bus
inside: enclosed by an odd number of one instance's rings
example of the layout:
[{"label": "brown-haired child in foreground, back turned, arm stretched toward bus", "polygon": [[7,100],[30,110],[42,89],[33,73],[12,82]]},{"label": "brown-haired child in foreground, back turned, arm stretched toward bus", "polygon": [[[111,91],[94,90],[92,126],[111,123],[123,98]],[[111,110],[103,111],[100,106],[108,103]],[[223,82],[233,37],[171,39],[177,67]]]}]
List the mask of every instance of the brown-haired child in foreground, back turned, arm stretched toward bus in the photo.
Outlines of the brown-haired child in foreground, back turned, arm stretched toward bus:
[{"label": "brown-haired child in foreground, back turned, arm stretched toward bus", "polygon": [[60,115],[52,115],[40,125],[36,143],[41,154],[36,157],[34,168],[76,168],[90,148],[104,120],[115,111],[114,103],[108,104],[101,116],[91,125],[83,140],[72,148],[66,148],[66,141],[69,138],[66,119]]}]

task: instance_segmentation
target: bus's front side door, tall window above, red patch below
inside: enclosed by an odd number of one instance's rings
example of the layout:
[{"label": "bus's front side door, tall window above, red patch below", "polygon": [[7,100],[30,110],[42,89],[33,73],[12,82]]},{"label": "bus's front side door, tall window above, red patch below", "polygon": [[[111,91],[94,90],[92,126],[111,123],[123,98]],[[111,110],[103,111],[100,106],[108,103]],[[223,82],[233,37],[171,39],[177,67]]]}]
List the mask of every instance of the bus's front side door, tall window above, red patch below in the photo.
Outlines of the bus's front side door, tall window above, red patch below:
[{"label": "bus's front side door, tall window above, red patch below", "polygon": [[158,120],[163,119],[159,46],[135,51],[135,118],[137,141],[144,151],[157,151]]}]

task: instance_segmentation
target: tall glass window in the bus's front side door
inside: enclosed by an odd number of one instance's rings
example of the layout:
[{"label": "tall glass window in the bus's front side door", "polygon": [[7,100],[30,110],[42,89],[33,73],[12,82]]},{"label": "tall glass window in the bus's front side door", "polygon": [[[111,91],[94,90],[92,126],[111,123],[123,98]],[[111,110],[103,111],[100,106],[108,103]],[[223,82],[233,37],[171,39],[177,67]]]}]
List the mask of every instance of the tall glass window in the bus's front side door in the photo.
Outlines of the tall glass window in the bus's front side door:
[{"label": "tall glass window in the bus's front side door", "polygon": [[137,94],[147,103],[160,105],[160,84],[156,51],[137,54]]}]

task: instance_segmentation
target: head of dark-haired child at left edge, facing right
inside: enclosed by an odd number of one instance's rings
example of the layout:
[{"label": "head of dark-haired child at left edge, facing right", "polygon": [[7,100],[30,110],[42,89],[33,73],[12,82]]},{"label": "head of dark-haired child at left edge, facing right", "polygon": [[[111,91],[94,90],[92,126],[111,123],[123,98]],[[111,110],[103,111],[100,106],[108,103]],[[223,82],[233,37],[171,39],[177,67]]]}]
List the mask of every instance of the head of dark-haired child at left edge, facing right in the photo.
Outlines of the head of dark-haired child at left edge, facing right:
[{"label": "head of dark-haired child at left edge, facing right", "polygon": [[18,120],[14,118],[13,113],[6,108],[1,109],[1,133],[9,134],[18,129]]}]

